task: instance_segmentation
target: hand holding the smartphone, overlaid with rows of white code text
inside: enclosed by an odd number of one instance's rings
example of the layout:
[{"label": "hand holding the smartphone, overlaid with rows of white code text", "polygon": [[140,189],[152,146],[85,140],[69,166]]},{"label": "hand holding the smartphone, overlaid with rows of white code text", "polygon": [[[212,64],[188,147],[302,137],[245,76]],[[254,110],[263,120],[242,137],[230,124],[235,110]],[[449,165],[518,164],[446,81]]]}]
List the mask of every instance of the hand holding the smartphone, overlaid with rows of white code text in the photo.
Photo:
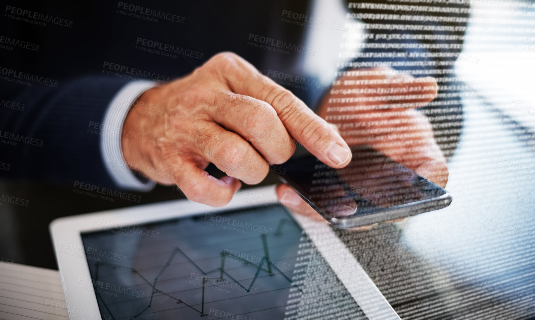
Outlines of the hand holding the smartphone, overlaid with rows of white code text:
[{"label": "hand holding the smartphone, overlaid with rows of white code text", "polygon": [[[337,126],[350,146],[368,144],[445,187],[446,159],[434,140],[429,120],[414,110],[434,99],[437,82],[431,77],[403,75],[387,67],[353,71],[334,82],[318,114]],[[277,194],[294,212],[320,218],[291,187],[279,185]]]}]

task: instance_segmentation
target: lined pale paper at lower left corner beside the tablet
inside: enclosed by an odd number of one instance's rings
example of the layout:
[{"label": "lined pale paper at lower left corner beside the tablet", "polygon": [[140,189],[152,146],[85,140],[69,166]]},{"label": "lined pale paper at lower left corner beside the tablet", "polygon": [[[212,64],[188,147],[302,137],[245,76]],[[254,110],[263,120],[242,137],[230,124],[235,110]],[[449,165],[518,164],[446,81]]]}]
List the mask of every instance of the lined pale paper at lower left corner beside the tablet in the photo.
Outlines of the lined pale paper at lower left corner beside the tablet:
[{"label": "lined pale paper at lower left corner beside the tablet", "polygon": [[0,262],[0,319],[68,320],[59,271]]}]

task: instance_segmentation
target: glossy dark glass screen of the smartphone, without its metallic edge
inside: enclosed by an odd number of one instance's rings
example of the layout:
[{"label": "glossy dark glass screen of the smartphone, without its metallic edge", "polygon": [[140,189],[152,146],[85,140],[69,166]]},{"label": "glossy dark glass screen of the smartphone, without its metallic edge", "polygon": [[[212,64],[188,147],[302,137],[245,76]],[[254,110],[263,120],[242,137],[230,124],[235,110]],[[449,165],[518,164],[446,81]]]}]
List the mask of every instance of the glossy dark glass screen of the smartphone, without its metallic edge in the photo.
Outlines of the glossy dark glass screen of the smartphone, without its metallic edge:
[{"label": "glossy dark glass screen of the smartphone, without its metallic edge", "polygon": [[369,146],[354,146],[351,150],[351,162],[342,169],[333,169],[300,149],[281,165],[286,170],[282,177],[331,217],[369,215],[447,193]]}]

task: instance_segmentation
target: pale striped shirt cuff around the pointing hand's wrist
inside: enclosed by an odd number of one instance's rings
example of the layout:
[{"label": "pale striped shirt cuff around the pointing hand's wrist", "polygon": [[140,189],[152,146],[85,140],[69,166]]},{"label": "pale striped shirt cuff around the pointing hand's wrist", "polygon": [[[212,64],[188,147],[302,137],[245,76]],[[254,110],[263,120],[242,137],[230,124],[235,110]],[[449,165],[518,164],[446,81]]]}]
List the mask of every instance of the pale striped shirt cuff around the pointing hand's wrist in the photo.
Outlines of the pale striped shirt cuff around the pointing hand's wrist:
[{"label": "pale striped shirt cuff around the pointing hand's wrist", "polygon": [[121,133],[123,123],[130,106],[142,93],[156,86],[153,81],[132,81],[121,88],[113,97],[101,126],[100,148],[104,166],[112,180],[123,189],[151,191],[156,182],[147,179],[128,167],[121,149]]}]

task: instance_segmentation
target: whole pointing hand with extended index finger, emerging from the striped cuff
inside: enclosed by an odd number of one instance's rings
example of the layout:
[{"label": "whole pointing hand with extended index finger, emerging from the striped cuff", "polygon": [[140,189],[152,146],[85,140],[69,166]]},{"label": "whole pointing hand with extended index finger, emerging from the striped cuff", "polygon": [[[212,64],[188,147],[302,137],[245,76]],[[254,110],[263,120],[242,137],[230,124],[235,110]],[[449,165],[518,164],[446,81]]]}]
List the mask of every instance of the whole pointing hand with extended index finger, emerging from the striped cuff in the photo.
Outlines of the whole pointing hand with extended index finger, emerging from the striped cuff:
[{"label": "whole pointing hand with extended index finger, emerging from the striped cuff", "polygon": [[[132,132],[151,139],[125,139]],[[332,126],[246,60],[223,52],[143,93],[125,119],[121,147],[132,169],[218,207],[231,200],[239,180],[257,184],[268,163],[292,156],[292,137],[327,165],[350,161],[349,147]],[[209,163],[227,176],[210,176],[204,171]]]}]

